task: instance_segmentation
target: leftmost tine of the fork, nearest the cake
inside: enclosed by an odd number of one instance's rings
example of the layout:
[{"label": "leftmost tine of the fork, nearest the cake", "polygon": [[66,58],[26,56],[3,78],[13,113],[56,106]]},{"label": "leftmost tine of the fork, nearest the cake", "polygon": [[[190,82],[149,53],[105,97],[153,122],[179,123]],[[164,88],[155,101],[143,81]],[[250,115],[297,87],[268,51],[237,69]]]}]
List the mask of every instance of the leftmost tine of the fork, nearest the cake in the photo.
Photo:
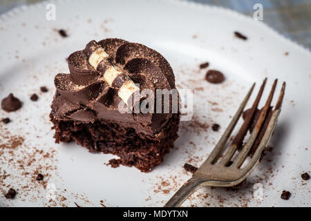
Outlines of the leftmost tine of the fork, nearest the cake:
[{"label": "leftmost tine of the fork, nearest the cake", "polygon": [[248,99],[249,99],[250,95],[252,95],[252,92],[254,90],[255,84],[256,83],[254,83],[252,85],[252,88],[249,89],[249,92],[247,93],[246,97],[244,98],[243,102],[241,103],[240,107],[238,108],[238,111],[236,111],[236,114],[232,118],[232,121],[230,122],[229,126],[227,127],[225,133],[220,137],[220,140],[216,144],[216,146],[213,149],[213,151],[211,151],[211,154],[209,155],[207,160],[204,162],[204,164],[211,164],[216,159],[218,154],[221,152],[223,147],[225,146],[229,136],[231,135],[234,127],[236,126],[236,123],[238,122],[238,119],[241,117],[241,115],[243,113],[243,110],[244,110],[244,108],[245,108],[245,106],[246,106],[246,104],[248,102]]}]

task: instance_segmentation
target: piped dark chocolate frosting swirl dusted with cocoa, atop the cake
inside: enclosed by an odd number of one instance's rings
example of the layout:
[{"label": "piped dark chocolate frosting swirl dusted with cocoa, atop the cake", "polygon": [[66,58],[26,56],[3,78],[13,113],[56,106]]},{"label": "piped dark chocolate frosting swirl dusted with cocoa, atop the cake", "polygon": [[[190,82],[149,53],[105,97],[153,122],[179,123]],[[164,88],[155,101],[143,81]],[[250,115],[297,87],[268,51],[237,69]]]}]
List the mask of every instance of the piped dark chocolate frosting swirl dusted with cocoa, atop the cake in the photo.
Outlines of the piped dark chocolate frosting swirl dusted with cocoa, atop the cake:
[{"label": "piped dark chocolate frosting swirl dusted with cocoa, atop the cake", "polygon": [[[104,39],[98,44],[109,55],[111,63],[119,66],[135,84],[140,84],[140,90],[149,89],[156,95],[156,89],[176,88],[171,66],[156,50],[122,39]],[[68,57],[70,73],[60,73],[55,77],[57,92],[52,104],[55,117],[76,122],[117,121],[137,124],[138,131],[142,133],[160,132],[172,114],[120,113],[122,100],[88,63],[86,53],[84,50],[73,52]],[[123,111],[126,111],[126,106]]]}]

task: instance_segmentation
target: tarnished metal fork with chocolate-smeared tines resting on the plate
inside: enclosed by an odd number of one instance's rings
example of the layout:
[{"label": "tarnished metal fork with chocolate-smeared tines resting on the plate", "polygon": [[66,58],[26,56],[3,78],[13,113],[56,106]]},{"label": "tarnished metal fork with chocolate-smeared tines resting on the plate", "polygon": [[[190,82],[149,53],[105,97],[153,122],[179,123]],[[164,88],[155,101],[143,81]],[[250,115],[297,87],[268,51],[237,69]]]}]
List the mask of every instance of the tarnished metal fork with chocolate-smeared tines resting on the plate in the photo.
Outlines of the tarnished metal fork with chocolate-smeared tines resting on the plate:
[{"label": "tarnished metal fork with chocolate-smeared tines resting on the plate", "polygon": [[[276,88],[277,79],[274,81],[270,95],[267,98],[265,106],[261,111],[261,115],[256,122],[249,139],[247,140],[245,146],[243,146],[241,152],[234,157],[236,150],[241,147],[244,137],[249,129],[250,124],[252,124],[252,119],[258,107],[259,101],[263,94],[263,89],[267,78],[263,81],[259,93],[254,101],[252,108],[249,111],[249,115],[245,118],[243,125],[238,131],[236,137],[229,145],[227,151],[224,153],[223,157],[220,157],[221,153],[224,151],[225,144],[229,136],[231,135],[238,119],[241,117],[245,105],[254,90],[255,84],[250,88],[245,99],[243,100],[238,111],[234,115],[232,122],[227,127],[225,133],[220,137],[218,144],[216,144],[214,150],[211,152],[207,160],[200,166],[200,168],[194,173],[190,180],[185,182],[185,184],[177,191],[175,195],[165,204],[164,207],[174,207],[180,206],[189,196],[200,189],[202,186],[234,186],[245,180],[245,178],[253,171],[255,166],[258,164],[261,153],[263,149],[270,141],[274,129],[276,127],[276,121],[281,112],[281,105],[283,102],[284,92],[285,92],[285,82],[281,88],[281,93],[279,99],[276,102],[274,109],[270,108],[272,102],[272,97],[274,95],[274,90]],[[250,150],[254,150],[254,155],[244,166],[243,163],[249,155]],[[234,160],[232,159],[234,157]],[[241,166],[243,167],[241,168]]]}]

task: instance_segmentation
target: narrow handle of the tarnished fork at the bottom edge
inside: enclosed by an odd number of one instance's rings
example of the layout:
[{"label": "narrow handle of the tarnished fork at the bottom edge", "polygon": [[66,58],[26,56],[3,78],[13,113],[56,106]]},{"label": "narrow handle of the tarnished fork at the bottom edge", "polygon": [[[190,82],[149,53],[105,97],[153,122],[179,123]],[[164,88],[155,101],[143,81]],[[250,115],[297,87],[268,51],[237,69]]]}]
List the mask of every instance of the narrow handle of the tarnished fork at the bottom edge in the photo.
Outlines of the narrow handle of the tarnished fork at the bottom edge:
[{"label": "narrow handle of the tarnished fork at the bottom edge", "polygon": [[196,178],[191,178],[185,184],[180,187],[180,189],[173,195],[171,200],[164,205],[164,207],[178,207],[180,206],[185,200],[189,198],[189,196],[200,189],[202,187],[204,180],[198,180]]}]

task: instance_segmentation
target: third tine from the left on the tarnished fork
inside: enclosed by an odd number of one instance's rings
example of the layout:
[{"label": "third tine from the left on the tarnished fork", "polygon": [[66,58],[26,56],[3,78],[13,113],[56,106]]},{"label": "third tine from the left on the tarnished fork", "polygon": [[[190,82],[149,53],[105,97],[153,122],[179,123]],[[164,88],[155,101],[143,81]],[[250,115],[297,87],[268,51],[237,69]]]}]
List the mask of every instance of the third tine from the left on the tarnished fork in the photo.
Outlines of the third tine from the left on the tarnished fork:
[{"label": "third tine from the left on the tarnished fork", "polygon": [[254,131],[252,132],[251,136],[249,137],[249,140],[245,144],[241,153],[239,153],[236,160],[234,160],[234,163],[232,164],[232,166],[239,168],[243,164],[243,162],[244,162],[245,158],[247,157],[250,149],[252,148],[252,146],[256,140],[256,137],[257,137],[259,131],[261,130],[261,127],[263,126],[263,122],[265,121],[265,117],[267,116],[267,111],[269,111],[270,104],[272,102],[272,98],[273,98],[274,91],[276,88],[276,84],[277,84],[277,79],[274,80],[274,84],[273,84],[272,89],[270,91],[270,95],[267,98],[267,102],[265,103],[265,106],[263,107],[263,111],[261,111],[261,115],[260,115],[260,117],[256,123]]}]

